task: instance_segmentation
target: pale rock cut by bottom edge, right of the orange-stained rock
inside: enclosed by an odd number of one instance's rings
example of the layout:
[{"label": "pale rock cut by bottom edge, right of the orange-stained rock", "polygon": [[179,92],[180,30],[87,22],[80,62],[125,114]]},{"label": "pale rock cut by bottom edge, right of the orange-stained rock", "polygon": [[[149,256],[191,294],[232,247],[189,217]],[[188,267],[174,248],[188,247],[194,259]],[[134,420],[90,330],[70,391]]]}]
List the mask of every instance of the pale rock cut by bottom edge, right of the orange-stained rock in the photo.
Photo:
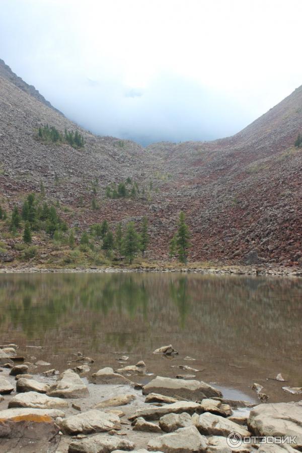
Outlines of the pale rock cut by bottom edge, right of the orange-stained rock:
[{"label": "pale rock cut by bottom edge, right of the orange-stained rock", "polygon": [[97,434],[82,440],[70,443],[68,453],[109,453],[110,451],[133,450],[134,443],[127,439]]}]

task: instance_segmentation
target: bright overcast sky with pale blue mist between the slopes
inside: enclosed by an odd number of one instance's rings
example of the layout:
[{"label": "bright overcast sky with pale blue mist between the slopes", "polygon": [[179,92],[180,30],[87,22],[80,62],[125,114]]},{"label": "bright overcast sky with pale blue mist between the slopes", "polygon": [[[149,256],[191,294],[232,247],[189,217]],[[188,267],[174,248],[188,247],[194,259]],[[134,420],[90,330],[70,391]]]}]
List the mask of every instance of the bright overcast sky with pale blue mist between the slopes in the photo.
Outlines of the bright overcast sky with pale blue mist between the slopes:
[{"label": "bright overcast sky with pale blue mist between the slopes", "polygon": [[208,140],[302,84],[301,20],[301,0],[0,0],[0,58],[95,133]]}]

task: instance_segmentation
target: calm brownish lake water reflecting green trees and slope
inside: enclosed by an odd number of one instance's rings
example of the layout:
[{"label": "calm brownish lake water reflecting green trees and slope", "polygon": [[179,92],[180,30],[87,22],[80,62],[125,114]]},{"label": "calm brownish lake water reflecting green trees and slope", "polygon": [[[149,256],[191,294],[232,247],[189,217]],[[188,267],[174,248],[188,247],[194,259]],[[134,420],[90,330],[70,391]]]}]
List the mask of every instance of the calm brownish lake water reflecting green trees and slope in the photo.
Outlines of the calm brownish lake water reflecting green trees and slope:
[{"label": "calm brownish lake water reflecting green trees and slope", "polygon": [[[17,343],[26,360],[34,356],[60,371],[78,351],[95,359],[91,372],[118,368],[118,353],[126,353],[127,364],[143,359],[150,373],[192,373],[172,366],[184,364],[200,370],[196,379],[250,398],[257,382],[272,402],[300,400],[282,385],[302,386],[302,279],[2,274],[0,309],[0,342]],[[170,343],[176,358],[152,354]],[[268,379],[278,373],[286,384]]]}]

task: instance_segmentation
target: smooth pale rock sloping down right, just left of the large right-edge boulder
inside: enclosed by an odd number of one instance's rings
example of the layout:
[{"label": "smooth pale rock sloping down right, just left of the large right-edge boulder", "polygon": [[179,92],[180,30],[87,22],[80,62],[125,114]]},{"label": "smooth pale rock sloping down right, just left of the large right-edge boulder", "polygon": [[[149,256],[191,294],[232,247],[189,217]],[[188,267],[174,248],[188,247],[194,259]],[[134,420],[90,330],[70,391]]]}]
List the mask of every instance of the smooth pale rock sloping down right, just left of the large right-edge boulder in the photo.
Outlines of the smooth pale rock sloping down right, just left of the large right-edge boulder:
[{"label": "smooth pale rock sloping down right, just left of the large right-edge boulder", "polygon": [[241,425],[209,412],[199,416],[196,427],[205,435],[227,437],[231,432],[237,432],[242,436],[250,436],[250,432]]}]

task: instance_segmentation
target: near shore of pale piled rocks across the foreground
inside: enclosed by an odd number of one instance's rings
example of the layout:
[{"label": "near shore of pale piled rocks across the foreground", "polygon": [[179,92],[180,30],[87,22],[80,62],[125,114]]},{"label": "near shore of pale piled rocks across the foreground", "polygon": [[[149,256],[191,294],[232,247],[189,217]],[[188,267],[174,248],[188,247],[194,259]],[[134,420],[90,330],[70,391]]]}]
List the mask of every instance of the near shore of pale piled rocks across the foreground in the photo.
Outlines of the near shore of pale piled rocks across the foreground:
[{"label": "near shore of pale piled rocks across the foreground", "polygon": [[[91,375],[93,358],[74,353],[69,368],[60,372],[31,355],[39,346],[28,348],[23,354],[15,344],[0,346],[2,453],[302,449],[302,401],[225,399],[205,382],[154,376],[142,360],[128,365],[129,357],[122,355],[116,369],[102,364]],[[178,352],[169,345],[154,354],[161,358]],[[266,401],[261,389],[256,391]]]}]

